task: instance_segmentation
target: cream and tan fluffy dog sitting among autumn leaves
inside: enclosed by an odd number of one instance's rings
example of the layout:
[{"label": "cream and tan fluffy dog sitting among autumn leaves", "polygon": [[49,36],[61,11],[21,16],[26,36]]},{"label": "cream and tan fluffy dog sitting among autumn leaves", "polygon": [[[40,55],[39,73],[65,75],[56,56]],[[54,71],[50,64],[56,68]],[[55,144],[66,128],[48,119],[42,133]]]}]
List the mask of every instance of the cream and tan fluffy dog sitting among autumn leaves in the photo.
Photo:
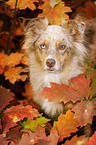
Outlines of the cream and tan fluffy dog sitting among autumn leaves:
[{"label": "cream and tan fluffy dog sitting among autumn leaves", "polygon": [[33,100],[45,114],[53,117],[64,110],[63,102],[56,104],[39,96],[50,82],[69,84],[69,80],[83,73],[86,48],[83,44],[85,26],[74,20],[61,26],[49,25],[46,18],[35,18],[25,29],[23,49],[29,58]]}]

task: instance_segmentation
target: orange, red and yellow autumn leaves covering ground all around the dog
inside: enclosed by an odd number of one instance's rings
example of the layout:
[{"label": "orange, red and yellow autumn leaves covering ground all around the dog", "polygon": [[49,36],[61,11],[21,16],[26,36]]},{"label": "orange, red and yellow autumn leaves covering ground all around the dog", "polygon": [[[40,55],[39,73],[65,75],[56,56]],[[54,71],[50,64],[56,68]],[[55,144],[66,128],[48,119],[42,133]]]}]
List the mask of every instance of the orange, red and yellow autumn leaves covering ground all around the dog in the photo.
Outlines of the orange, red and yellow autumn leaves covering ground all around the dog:
[{"label": "orange, red and yellow autumn leaves covering ground all around the dog", "polygon": [[[25,20],[39,16],[50,24],[62,19],[96,17],[95,0],[0,0],[0,144],[95,145],[96,66],[85,60],[85,73],[70,85],[51,83],[40,97],[64,102],[64,113],[49,119],[32,100],[28,60],[22,53]],[[26,99],[27,97],[27,99]]]}]

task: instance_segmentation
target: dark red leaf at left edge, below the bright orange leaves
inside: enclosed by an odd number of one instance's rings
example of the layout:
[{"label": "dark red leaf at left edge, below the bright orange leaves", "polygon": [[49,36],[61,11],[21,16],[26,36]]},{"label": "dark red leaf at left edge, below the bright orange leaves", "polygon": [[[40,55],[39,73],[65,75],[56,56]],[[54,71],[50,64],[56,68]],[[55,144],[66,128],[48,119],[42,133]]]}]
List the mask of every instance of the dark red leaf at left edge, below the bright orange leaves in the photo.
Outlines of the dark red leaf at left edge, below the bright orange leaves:
[{"label": "dark red leaf at left edge, below the bright orange leaves", "polygon": [[0,112],[6,105],[12,101],[14,94],[7,90],[6,88],[0,86]]}]

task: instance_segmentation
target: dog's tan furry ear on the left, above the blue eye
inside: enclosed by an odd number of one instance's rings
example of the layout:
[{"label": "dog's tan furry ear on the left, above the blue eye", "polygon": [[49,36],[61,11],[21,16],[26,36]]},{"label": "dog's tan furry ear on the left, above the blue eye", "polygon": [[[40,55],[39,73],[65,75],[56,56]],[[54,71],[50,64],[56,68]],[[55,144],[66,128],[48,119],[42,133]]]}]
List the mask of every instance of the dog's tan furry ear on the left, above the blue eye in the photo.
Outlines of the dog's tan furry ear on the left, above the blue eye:
[{"label": "dog's tan furry ear on the left, above the blue eye", "polygon": [[25,25],[25,39],[23,42],[23,49],[30,53],[34,50],[34,42],[47,29],[48,20],[46,18],[35,18],[28,20]]}]

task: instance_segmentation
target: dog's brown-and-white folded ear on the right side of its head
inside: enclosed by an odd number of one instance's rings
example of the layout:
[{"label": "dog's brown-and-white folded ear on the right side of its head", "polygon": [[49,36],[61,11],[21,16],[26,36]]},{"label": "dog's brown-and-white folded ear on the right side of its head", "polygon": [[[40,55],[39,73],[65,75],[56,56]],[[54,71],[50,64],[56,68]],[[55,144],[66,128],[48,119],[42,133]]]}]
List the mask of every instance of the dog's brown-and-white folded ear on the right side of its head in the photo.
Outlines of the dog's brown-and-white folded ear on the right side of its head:
[{"label": "dog's brown-and-white folded ear on the right side of its head", "polygon": [[79,23],[75,20],[66,20],[62,22],[63,31],[67,31],[70,35],[83,34],[85,30],[85,24]]}]

